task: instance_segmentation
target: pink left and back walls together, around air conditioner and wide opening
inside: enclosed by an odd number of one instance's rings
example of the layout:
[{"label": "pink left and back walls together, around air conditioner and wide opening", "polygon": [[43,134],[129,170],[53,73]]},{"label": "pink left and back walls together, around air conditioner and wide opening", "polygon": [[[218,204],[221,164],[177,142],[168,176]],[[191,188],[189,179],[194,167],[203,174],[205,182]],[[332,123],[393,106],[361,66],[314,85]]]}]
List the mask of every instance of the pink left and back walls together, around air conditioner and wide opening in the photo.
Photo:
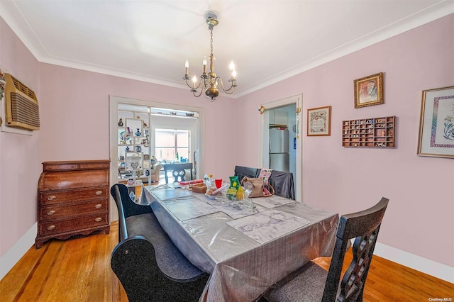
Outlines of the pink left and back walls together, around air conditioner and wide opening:
[{"label": "pink left and back walls together, around air conditioner and wide opening", "polygon": [[204,167],[233,174],[235,154],[220,146],[235,141],[236,100],[211,103],[186,89],[38,63],[1,18],[0,41],[0,68],[38,95],[41,124],[33,136],[0,132],[0,256],[36,222],[41,162],[109,159],[109,95],[204,108]]}]

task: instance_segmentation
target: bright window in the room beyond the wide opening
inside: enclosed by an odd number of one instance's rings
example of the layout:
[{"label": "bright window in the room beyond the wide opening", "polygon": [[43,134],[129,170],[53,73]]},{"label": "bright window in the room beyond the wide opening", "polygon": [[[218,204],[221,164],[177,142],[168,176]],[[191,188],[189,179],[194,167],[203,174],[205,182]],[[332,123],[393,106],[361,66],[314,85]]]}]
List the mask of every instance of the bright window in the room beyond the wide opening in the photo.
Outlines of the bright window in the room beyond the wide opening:
[{"label": "bright window in the room beyond the wide opening", "polygon": [[161,161],[188,161],[191,155],[191,131],[155,129],[155,156]]}]

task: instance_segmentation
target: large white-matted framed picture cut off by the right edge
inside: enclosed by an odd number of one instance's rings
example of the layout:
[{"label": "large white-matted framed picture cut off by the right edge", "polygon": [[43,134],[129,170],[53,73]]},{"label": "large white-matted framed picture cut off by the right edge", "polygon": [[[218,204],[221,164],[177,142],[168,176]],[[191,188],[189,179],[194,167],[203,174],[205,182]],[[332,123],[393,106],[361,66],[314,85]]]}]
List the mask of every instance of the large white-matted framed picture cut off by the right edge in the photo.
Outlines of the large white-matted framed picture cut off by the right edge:
[{"label": "large white-matted framed picture cut off by the right edge", "polygon": [[454,86],[423,91],[418,155],[454,158]]}]

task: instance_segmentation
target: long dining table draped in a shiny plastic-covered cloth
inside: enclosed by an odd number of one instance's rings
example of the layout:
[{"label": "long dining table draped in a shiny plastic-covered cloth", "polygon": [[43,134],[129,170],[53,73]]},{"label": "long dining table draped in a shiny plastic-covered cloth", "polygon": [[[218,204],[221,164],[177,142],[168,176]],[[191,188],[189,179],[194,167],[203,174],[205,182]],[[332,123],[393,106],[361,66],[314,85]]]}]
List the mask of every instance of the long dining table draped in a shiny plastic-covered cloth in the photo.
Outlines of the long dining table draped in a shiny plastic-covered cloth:
[{"label": "long dining table draped in a shiny plastic-covered cloth", "polygon": [[243,202],[185,186],[144,191],[142,202],[172,242],[210,274],[200,301],[254,301],[311,259],[333,252],[337,213],[276,195]]}]

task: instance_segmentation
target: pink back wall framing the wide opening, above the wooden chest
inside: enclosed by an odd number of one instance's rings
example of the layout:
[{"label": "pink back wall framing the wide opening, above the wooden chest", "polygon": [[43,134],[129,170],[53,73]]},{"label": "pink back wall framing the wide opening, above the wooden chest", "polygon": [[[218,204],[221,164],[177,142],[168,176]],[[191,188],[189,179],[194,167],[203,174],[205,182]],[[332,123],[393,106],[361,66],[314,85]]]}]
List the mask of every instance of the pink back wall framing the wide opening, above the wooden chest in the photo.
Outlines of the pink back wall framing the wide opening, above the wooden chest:
[{"label": "pink back wall framing the wide opening, above the wooden chest", "polygon": [[[194,98],[189,89],[175,89],[95,72],[41,64],[41,160],[109,158],[109,95],[129,99],[196,106],[205,110],[206,171],[227,177],[233,172],[231,150],[221,148],[234,139],[236,101],[225,96],[211,103]],[[219,114],[222,112],[223,114]],[[223,161],[219,162],[218,158]]]}]

